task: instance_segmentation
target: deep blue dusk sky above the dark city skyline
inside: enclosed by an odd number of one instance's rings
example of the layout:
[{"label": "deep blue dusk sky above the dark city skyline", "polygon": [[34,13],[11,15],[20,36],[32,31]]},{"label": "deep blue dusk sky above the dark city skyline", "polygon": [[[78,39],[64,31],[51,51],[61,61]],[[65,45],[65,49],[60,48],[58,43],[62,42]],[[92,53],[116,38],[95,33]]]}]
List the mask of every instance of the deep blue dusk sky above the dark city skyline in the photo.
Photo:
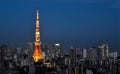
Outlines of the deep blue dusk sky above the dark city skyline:
[{"label": "deep blue dusk sky above the dark city skyline", "polygon": [[0,0],[0,43],[33,42],[36,9],[42,44],[120,49],[119,0]]}]

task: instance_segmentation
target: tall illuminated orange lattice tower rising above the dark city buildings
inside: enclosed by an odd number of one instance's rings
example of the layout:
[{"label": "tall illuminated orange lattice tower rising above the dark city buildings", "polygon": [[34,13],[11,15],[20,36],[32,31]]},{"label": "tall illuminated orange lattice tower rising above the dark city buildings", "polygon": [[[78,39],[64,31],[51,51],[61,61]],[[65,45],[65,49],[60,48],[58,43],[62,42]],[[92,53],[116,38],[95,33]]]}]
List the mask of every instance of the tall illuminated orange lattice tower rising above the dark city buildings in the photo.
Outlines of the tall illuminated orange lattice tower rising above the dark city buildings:
[{"label": "tall illuminated orange lattice tower rising above the dark city buildings", "polygon": [[34,45],[33,59],[34,59],[35,62],[37,62],[38,60],[44,60],[42,50],[41,50],[39,12],[38,12],[38,10],[37,10],[37,16],[36,16],[36,32],[35,32],[35,45]]}]

